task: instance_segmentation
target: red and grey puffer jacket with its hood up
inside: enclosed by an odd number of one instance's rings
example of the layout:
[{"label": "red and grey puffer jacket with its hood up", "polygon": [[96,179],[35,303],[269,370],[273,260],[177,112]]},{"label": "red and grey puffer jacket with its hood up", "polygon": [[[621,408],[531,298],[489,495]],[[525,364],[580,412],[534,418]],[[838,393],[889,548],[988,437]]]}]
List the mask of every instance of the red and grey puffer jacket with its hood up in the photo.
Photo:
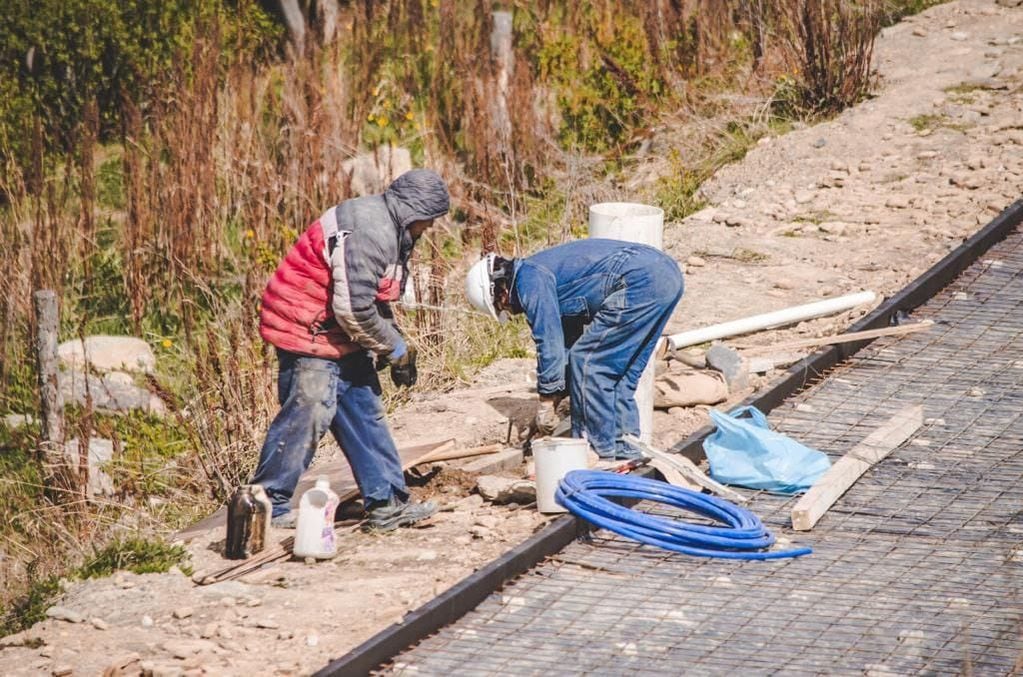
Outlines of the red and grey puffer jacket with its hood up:
[{"label": "red and grey puffer jacket with its hood up", "polygon": [[399,176],[382,195],[327,210],[299,237],[263,292],[260,335],[299,355],[337,359],[359,350],[400,356],[405,342],[388,304],[401,297],[414,221],[447,213],[444,180]]}]

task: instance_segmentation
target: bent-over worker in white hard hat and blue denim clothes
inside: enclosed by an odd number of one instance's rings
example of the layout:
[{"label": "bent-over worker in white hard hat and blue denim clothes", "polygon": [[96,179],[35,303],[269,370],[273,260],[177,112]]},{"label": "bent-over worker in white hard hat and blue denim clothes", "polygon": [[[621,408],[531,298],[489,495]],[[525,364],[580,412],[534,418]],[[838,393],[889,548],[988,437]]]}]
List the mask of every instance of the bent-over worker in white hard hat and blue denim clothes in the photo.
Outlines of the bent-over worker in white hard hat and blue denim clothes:
[{"label": "bent-over worker in white hard hat and blue denim clothes", "polygon": [[469,271],[465,294],[494,319],[525,313],[536,342],[537,433],[550,435],[569,396],[572,437],[604,459],[642,456],[624,437],[639,435],[636,386],[682,297],[674,260],[595,238],[526,259],[488,254]]}]

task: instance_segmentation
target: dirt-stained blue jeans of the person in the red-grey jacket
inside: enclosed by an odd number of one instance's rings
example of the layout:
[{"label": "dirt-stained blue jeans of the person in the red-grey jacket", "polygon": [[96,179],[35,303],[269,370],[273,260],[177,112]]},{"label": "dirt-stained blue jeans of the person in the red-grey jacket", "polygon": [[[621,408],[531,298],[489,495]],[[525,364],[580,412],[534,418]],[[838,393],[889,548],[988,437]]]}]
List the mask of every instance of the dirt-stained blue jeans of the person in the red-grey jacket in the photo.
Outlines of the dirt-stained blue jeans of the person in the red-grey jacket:
[{"label": "dirt-stained blue jeans of the person in the red-grey jacket", "polygon": [[381,383],[365,352],[340,360],[277,350],[280,411],[270,423],[252,484],[262,485],[273,516],[291,509],[299,478],[327,428],[352,466],[366,502],[408,497],[398,449],[384,419]]}]

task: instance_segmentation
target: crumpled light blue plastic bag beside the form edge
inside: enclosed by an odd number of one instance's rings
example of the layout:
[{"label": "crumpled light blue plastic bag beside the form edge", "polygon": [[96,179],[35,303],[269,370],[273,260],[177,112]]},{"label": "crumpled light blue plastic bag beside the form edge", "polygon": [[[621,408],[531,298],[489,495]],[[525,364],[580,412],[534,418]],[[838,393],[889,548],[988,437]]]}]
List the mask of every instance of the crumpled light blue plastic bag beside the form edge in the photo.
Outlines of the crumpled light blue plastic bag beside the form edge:
[{"label": "crumpled light blue plastic bag beside the form edge", "polygon": [[704,451],[710,476],[721,484],[799,494],[831,467],[827,454],[770,430],[756,407],[712,409],[710,417],[717,430],[704,440]]}]

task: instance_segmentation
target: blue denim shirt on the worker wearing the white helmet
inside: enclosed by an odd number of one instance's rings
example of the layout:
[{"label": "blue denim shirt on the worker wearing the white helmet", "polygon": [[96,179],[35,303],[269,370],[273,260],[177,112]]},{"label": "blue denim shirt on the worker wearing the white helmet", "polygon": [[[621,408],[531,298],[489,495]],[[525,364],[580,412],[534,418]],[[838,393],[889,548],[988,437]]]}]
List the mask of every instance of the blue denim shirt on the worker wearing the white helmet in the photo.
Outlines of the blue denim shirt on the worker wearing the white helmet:
[{"label": "blue denim shirt on the worker wearing the white helmet", "polygon": [[537,392],[566,390],[568,349],[612,292],[632,255],[657,250],[613,239],[581,239],[515,262],[511,308],[526,314],[536,342]]}]

